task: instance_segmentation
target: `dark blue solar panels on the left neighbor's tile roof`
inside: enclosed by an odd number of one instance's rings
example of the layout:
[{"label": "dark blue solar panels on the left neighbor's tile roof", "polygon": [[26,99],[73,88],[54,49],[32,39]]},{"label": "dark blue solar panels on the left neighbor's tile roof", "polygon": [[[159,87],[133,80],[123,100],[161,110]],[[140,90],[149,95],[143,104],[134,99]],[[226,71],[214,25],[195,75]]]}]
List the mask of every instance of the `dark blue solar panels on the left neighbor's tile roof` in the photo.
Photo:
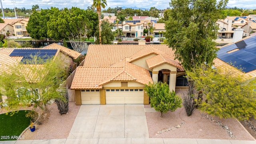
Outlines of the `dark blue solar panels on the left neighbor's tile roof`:
[{"label": "dark blue solar panels on the left neighbor's tile roof", "polygon": [[[52,59],[57,50],[47,50],[47,49],[14,49],[9,56],[23,56],[20,61],[23,64],[43,64],[48,59]],[[37,56],[38,60],[34,60]]]}]

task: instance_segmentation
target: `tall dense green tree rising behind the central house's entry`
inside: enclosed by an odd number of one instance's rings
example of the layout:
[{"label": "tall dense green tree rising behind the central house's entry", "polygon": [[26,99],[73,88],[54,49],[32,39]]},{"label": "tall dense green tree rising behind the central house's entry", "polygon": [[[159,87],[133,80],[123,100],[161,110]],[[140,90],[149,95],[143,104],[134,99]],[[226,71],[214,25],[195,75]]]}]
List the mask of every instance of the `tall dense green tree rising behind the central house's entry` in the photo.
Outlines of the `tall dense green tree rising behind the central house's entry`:
[{"label": "tall dense green tree rising behind the central house's entry", "polygon": [[216,58],[215,22],[228,0],[172,0],[170,18],[165,24],[168,45],[185,70]]}]

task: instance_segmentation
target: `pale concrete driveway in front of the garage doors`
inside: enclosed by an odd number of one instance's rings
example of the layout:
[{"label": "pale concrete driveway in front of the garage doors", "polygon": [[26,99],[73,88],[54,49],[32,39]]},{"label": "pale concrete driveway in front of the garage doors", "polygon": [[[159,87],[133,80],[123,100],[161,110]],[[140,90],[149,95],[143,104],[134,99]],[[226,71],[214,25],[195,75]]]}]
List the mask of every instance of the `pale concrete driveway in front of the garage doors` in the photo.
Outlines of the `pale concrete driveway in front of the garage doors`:
[{"label": "pale concrete driveway in front of the garage doors", "polygon": [[69,138],[149,138],[144,105],[82,105]]}]

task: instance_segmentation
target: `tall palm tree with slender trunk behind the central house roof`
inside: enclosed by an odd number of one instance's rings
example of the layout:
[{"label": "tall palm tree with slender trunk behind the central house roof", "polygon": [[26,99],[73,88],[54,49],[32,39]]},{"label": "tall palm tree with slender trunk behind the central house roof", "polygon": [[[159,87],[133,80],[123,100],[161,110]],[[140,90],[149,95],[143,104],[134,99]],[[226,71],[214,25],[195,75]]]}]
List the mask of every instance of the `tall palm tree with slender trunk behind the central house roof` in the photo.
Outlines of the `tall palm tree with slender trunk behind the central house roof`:
[{"label": "tall palm tree with slender trunk behind the central house roof", "polygon": [[105,8],[107,5],[106,0],[93,0],[92,7],[97,8],[98,20],[99,20],[99,38],[101,44],[101,35],[100,35],[100,16],[101,16],[101,8]]}]

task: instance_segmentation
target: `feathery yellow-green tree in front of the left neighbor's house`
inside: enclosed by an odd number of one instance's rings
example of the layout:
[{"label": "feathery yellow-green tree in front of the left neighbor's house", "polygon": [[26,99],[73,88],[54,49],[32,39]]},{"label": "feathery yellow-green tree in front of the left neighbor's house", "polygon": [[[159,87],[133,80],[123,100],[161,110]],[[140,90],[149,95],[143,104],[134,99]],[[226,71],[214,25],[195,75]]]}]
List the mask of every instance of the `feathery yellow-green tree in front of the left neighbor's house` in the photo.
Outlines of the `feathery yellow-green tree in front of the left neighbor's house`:
[{"label": "feathery yellow-green tree in front of the left neighbor's house", "polygon": [[7,96],[7,108],[17,110],[20,106],[34,104],[37,112],[48,112],[47,102],[61,98],[57,89],[66,76],[64,59],[57,56],[54,60],[42,60],[31,56],[25,61],[27,64],[19,62],[0,70],[1,94]]}]

